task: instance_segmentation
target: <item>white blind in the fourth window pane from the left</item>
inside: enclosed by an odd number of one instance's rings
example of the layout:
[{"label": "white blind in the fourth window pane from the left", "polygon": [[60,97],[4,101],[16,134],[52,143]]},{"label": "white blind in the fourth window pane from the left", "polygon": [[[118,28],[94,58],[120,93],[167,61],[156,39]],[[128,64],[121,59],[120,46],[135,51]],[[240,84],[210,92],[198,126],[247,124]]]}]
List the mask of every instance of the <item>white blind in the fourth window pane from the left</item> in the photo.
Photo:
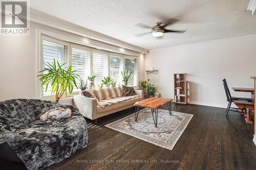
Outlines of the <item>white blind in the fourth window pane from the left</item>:
[{"label": "white blind in the fourth window pane from the left", "polygon": [[110,77],[114,82],[116,81],[116,84],[122,83],[121,71],[123,71],[123,58],[110,56]]}]

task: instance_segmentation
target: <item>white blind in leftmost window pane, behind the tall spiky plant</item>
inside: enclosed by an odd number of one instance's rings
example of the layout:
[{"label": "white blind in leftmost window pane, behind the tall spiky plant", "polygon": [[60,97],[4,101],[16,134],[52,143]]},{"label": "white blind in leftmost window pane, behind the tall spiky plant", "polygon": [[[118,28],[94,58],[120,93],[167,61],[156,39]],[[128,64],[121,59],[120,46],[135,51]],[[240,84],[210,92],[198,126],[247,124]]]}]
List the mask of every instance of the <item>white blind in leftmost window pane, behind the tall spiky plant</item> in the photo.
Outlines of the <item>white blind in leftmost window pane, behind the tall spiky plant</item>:
[{"label": "white blind in leftmost window pane, behind the tall spiky plant", "polygon": [[[43,40],[42,41],[42,67],[43,68],[48,68],[46,65],[47,62],[52,64],[54,62],[54,59],[57,63],[57,61],[60,64],[64,64],[65,62],[68,61],[67,58],[67,53],[68,53],[68,48],[65,45],[55,43],[55,42],[50,42]],[[46,72],[44,72],[46,74]],[[43,86],[42,88],[42,96],[47,96],[51,95],[51,84],[48,85],[48,89],[46,91],[46,85]]]}]

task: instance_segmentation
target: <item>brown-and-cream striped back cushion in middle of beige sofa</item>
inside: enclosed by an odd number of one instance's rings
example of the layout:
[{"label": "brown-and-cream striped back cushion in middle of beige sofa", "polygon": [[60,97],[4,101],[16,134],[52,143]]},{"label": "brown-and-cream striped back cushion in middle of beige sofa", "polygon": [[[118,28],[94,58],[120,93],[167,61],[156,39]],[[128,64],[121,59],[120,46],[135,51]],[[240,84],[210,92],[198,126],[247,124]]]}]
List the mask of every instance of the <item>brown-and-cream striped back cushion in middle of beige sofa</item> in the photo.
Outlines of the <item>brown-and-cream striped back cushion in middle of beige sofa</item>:
[{"label": "brown-and-cream striped back cushion in middle of beige sofa", "polygon": [[121,87],[104,88],[104,89],[91,90],[91,91],[98,101],[123,96],[123,91]]}]

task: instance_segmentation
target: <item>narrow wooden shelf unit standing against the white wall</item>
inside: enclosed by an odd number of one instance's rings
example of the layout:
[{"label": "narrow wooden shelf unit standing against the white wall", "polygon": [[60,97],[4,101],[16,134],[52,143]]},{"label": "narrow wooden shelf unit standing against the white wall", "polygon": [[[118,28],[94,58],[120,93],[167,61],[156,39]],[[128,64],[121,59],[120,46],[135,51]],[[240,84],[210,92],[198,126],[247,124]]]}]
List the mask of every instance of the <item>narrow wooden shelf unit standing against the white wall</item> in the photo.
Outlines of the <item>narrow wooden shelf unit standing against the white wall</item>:
[{"label": "narrow wooden shelf unit standing against the white wall", "polygon": [[187,74],[174,74],[174,102],[178,104],[187,104]]}]

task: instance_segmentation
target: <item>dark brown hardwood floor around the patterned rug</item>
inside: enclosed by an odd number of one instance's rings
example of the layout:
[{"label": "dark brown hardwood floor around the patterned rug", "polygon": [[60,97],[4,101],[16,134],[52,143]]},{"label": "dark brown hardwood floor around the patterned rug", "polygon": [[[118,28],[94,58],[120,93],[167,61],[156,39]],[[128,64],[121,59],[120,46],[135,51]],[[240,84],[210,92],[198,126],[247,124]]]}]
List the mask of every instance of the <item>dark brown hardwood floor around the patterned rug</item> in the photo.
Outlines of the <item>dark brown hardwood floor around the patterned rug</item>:
[{"label": "dark brown hardwood floor around the patterned rug", "polygon": [[[134,113],[132,108],[99,118],[97,125],[87,119],[88,147],[47,169],[256,169],[253,125],[243,115],[230,111],[226,117],[225,109],[198,105],[172,104],[172,109],[194,114],[172,151],[104,127]],[[4,160],[0,165],[26,169]]]}]

